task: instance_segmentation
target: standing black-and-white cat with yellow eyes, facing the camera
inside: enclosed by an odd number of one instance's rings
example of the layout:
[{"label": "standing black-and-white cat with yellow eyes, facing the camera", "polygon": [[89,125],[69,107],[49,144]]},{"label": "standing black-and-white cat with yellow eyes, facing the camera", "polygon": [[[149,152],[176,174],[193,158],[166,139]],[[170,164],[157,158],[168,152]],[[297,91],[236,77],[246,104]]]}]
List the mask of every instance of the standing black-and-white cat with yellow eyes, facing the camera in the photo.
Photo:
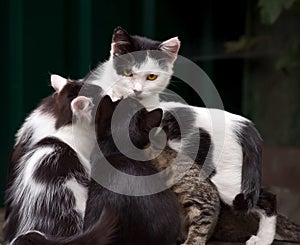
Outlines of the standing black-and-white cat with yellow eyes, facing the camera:
[{"label": "standing black-and-white cat with yellow eyes, facing the camera", "polygon": [[[199,129],[208,132],[214,146],[208,174],[211,172],[209,177],[222,201],[236,209],[260,214],[258,233],[248,240],[248,245],[271,244],[276,227],[276,198],[264,199],[260,192],[262,139],[253,123],[226,111],[159,101],[159,93],[169,84],[179,48],[178,38],[159,42],[130,35],[118,27],[113,33],[109,60],[92,70],[85,80],[100,85],[114,99],[134,97],[146,108],[159,106],[164,112],[179,112],[179,121],[185,123],[186,117],[180,115],[183,111],[188,116],[190,132],[183,139],[180,133],[172,138],[169,144],[174,149],[184,139],[197,139]],[[213,128],[211,115],[224,118],[225,125]],[[187,143],[182,146],[182,152],[193,155],[193,147],[194,144]],[[263,205],[257,205],[259,199]],[[268,206],[273,209],[268,211]]]}]

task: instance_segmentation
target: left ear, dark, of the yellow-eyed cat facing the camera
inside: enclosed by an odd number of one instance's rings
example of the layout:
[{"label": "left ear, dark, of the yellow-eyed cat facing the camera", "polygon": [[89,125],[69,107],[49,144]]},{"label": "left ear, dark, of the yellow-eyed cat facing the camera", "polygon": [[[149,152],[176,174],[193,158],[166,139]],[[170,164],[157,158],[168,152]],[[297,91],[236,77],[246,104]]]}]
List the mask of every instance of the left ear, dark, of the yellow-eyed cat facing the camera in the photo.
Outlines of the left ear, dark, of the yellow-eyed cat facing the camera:
[{"label": "left ear, dark, of the yellow-eyed cat facing the camera", "polygon": [[131,37],[127,31],[122,27],[118,26],[114,29],[112,44],[111,44],[111,55],[122,55],[130,52],[128,47],[131,45]]}]

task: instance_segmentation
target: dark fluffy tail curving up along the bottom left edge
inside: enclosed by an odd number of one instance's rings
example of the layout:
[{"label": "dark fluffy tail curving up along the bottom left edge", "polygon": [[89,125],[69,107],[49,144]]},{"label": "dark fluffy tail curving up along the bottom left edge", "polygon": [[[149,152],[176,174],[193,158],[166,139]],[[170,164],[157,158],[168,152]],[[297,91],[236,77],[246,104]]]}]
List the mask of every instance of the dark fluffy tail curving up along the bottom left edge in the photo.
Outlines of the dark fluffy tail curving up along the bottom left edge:
[{"label": "dark fluffy tail curving up along the bottom left edge", "polygon": [[99,221],[82,234],[55,238],[38,231],[30,231],[18,236],[10,245],[108,245],[112,244],[117,229],[118,216],[110,208],[104,208]]}]

